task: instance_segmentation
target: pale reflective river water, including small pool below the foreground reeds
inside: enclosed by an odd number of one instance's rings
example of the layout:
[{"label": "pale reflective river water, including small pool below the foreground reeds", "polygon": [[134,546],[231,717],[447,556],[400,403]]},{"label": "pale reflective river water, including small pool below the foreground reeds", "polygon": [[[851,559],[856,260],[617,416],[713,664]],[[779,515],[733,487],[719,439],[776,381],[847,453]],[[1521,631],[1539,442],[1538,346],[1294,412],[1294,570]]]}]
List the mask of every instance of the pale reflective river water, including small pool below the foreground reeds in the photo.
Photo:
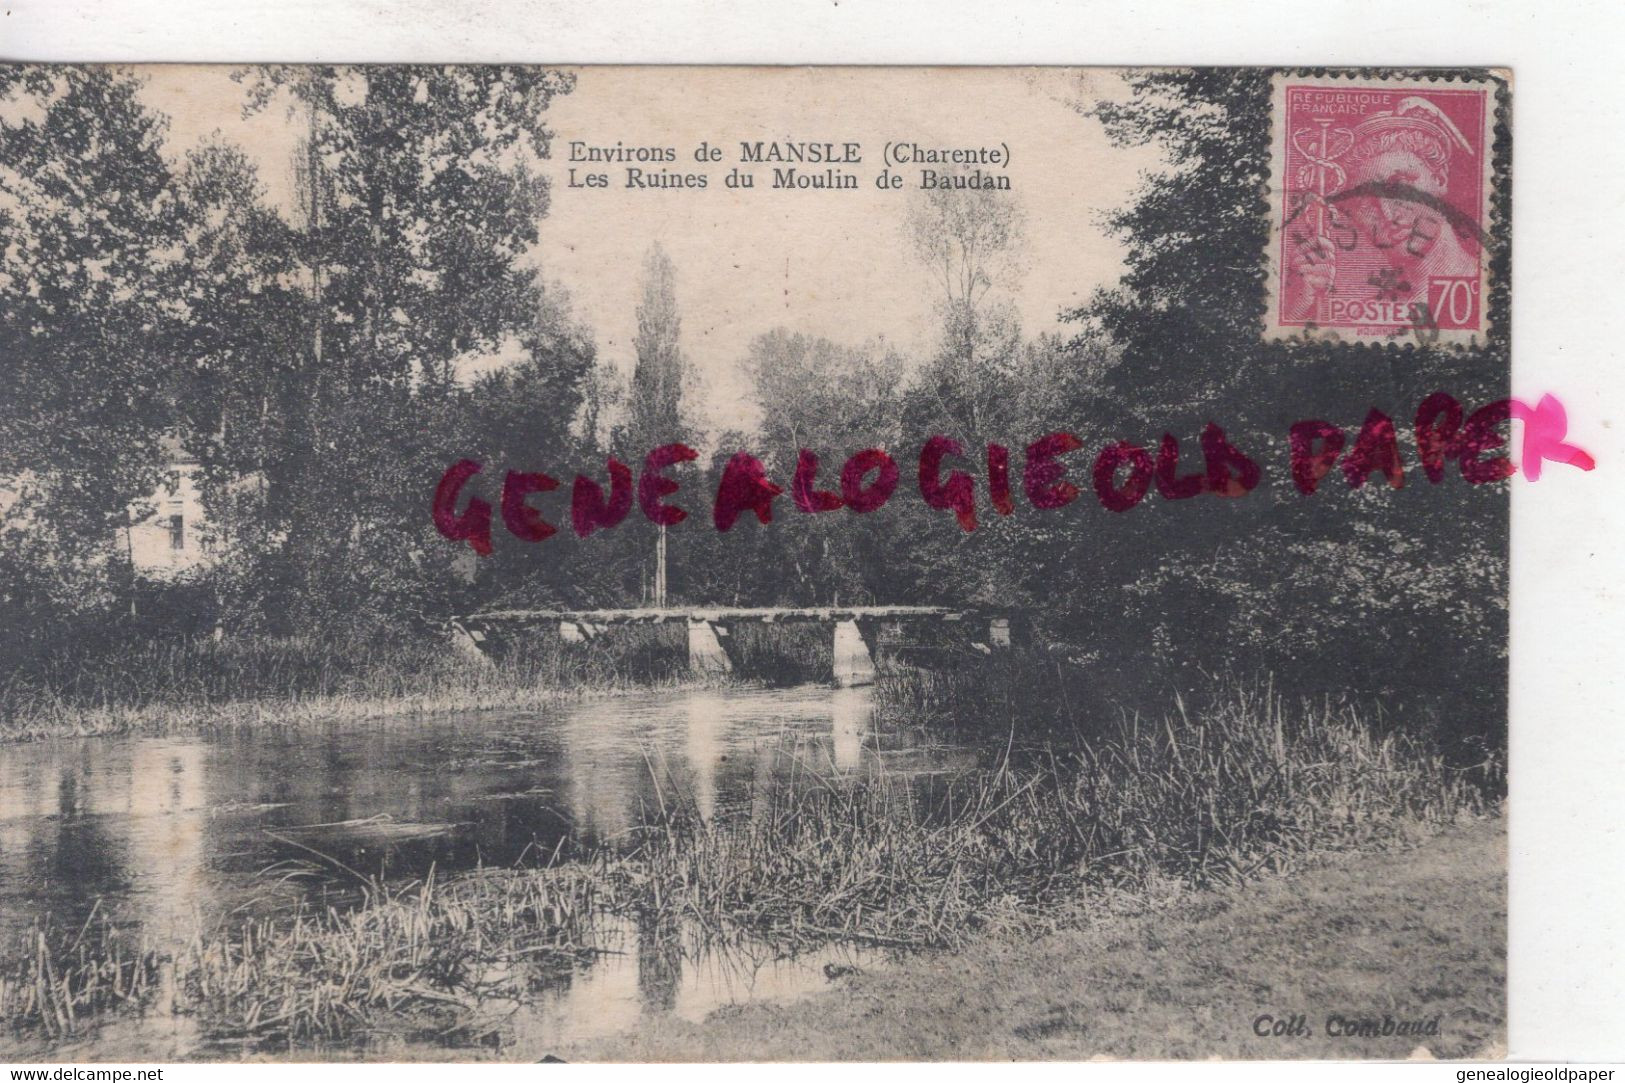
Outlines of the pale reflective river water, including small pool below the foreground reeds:
[{"label": "pale reflective river water, including small pool below the foreground reeds", "polygon": [[[556,711],[185,738],[84,738],[0,756],[0,933],[93,911],[154,940],[239,907],[327,893],[338,868],[392,876],[546,859],[614,841],[658,807],[762,815],[775,787],[972,766],[881,732],[869,689],[692,691]],[[317,857],[322,854],[325,857]],[[265,875],[306,870],[302,878]],[[822,963],[694,951],[656,919],[517,1018],[536,1042],[700,1018],[824,984]],[[184,1049],[177,1049],[185,1052]]]}]

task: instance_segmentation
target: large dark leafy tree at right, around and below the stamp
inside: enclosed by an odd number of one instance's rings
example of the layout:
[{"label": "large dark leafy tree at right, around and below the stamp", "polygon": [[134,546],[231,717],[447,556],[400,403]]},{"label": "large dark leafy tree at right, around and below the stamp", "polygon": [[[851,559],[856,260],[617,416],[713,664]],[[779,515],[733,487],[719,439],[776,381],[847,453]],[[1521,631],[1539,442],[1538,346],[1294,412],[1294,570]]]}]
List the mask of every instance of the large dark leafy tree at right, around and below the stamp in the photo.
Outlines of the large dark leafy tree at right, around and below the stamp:
[{"label": "large dark leafy tree at right, around and below the stamp", "polygon": [[[1282,483],[1280,447],[1300,418],[1358,426],[1383,407],[1406,428],[1398,411],[1433,390],[1474,403],[1505,395],[1505,332],[1462,351],[1261,340],[1269,80],[1147,72],[1128,101],[1095,111],[1120,143],[1162,143],[1170,166],[1113,220],[1128,272],[1072,314],[1112,350],[1068,403],[1115,428],[1113,439],[1147,446],[1222,423],[1264,462],[1264,483],[1243,501],[1097,514],[1048,550],[1046,568],[1074,584],[1061,598],[1072,624],[1110,623],[1124,662],[1150,652],[1178,680],[1232,667],[1271,670],[1277,686],[1402,693],[1412,712],[1436,707],[1458,735],[1482,733],[1485,719],[1505,719],[1505,488],[1430,485],[1414,472],[1402,489],[1334,483],[1303,498]],[[1495,259],[1505,270],[1505,247]],[[1505,302],[1505,291],[1492,299],[1503,314]],[[1471,676],[1443,688],[1438,672]]]}]

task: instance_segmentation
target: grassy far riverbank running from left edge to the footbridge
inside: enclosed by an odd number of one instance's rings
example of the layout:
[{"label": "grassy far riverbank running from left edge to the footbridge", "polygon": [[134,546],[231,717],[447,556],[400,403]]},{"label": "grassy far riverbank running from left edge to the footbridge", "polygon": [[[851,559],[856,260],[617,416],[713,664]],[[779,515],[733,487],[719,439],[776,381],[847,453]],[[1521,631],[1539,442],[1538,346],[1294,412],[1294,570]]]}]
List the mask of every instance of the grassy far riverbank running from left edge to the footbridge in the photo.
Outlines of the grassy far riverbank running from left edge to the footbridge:
[{"label": "grassy far riverbank running from left edge to the footbridge", "polygon": [[[822,637],[752,631],[741,631],[738,647],[752,670],[795,681],[822,667],[827,676]],[[702,680],[687,672],[684,634],[676,624],[626,628],[592,644],[530,634],[500,644],[494,659],[440,639],[88,641],[0,681],[0,742],[523,711],[691,686]]]}]

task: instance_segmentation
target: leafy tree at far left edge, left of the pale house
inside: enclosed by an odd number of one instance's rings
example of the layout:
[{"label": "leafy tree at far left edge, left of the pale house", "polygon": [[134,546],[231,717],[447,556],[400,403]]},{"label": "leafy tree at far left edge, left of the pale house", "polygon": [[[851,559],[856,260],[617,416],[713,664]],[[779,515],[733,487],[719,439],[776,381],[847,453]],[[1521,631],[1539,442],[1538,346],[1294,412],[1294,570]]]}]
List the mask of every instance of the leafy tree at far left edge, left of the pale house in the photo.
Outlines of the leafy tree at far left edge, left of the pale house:
[{"label": "leafy tree at far left edge, left of the pale house", "polygon": [[164,476],[200,208],[138,91],[122,68],[0,72],[0,624],[16,631],[112,610],[120,528]]}]

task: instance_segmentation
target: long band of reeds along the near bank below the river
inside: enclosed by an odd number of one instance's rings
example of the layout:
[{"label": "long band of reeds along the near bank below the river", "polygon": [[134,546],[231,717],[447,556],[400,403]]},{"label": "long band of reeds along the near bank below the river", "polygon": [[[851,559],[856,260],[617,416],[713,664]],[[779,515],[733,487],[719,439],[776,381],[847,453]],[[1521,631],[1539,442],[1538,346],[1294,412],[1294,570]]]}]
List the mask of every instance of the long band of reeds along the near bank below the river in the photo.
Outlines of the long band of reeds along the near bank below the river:
[{"label": "long band of reeds along the near bank below the river", "polygon": [[0,1018],[63,1037],[167,998],[205,1034],[254,1047],[403,1021],[458,1041],[489,1005],[523,1002],[600,950],[608,919],[673,951],[684,937],[956,950],[1406,846],[1490,811],[1495,785],[1354,712],[1235,693],[1201,712],[1098,722],[1081,750],[1006,759],[930,797],[809,776],[741,818],[671,798],[609,849],[367,883],[356,907],[213,919],[180,946],[128,943],[110,925],[42,930],[0,964]]}]

